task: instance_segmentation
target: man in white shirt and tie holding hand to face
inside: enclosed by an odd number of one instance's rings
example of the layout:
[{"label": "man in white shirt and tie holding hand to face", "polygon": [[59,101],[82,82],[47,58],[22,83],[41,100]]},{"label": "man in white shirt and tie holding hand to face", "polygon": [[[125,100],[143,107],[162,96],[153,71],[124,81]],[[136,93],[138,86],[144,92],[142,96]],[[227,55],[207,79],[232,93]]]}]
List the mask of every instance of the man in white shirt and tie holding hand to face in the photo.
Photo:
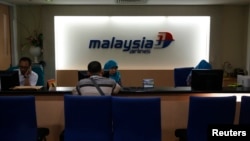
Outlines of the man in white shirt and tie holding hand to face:
[{"label": "man in white shirt and tie holding hand to face", "polygon": [[31,59],[22,57],[19,60],[19,81],[20,86],[36,86],[38,75],[31,69]]}]

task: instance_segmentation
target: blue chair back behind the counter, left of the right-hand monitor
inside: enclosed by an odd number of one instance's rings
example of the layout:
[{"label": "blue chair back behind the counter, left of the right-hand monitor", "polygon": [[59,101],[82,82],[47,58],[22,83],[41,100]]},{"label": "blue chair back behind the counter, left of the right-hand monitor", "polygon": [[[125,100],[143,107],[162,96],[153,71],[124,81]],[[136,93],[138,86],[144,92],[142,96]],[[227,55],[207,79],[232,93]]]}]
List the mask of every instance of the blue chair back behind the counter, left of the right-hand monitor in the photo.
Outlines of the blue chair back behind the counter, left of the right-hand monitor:
[{"label": "blue chair back behind the counter, left of the right-hand monitor", "polygon": [[187,86],[187,78],[193,67],[174,68],[175,87]]}]

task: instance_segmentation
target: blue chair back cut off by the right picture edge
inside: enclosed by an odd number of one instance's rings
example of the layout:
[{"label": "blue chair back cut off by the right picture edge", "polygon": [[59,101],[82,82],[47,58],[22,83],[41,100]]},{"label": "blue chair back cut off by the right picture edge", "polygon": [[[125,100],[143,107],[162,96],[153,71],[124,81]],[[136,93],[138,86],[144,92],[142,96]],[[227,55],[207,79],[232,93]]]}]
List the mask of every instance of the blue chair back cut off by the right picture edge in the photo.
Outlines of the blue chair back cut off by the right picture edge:
[{"label": "blue chair back cut off by the right picture edge", "polygon": [[242,96],[239,124],[250,124],[250,96]]}]

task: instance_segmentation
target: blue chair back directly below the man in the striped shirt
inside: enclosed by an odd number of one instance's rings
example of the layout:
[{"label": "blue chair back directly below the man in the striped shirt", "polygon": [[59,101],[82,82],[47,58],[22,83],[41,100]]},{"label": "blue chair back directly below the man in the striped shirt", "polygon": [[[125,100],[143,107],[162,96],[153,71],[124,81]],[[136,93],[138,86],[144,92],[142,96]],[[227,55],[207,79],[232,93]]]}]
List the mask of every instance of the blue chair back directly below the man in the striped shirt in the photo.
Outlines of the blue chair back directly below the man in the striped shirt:
[{"label": "blue chair back directly below the man in the striped shirt", "polygon": [[64,141],[111,141],[111,96],[64,96]]}]

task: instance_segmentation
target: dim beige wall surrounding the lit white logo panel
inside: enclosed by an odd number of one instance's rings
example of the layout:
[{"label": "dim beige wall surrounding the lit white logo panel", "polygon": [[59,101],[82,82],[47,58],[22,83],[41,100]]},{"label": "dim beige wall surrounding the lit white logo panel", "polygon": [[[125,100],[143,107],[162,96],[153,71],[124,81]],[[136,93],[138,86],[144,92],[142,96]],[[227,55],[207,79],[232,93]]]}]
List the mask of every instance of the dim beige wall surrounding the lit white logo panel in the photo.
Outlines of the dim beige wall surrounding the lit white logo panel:
[{"label": "dim beige wall surrounding the lit white logo panel", "polygon": [[[225,61],[246,68],[248,6],[18,6],[18,16],[28,27],[34,24],[31,15],[39,11],[47,79],[55,78],[54,16],[211,16],[209,61],[215,68],[221,68]],[[26,36],[20,33],[20,25],[18,29],[21,41]]]}]

